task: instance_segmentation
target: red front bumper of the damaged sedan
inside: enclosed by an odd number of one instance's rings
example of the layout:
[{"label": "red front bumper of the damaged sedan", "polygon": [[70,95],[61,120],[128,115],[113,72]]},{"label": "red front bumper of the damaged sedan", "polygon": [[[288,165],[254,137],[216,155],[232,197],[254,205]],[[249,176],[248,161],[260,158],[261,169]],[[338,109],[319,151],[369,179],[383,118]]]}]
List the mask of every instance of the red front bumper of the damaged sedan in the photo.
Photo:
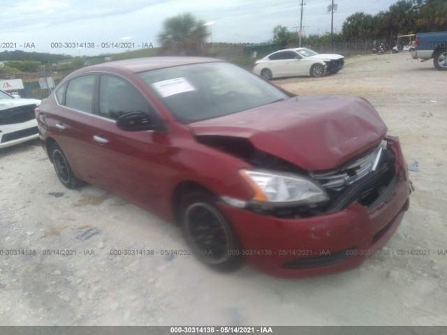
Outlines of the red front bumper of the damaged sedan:
[{"label": "red front bumper of the damaged sedan", "polygon": [[396,174],[374,202],[354,201],[336,212],[302,218],[266,216],[221,204],[244,241],[240,253],[258,269],[279,276],[330,274],[360,265],[388,241],[409,208],[400,144],[395,137],[386,141],[395,155]]}]

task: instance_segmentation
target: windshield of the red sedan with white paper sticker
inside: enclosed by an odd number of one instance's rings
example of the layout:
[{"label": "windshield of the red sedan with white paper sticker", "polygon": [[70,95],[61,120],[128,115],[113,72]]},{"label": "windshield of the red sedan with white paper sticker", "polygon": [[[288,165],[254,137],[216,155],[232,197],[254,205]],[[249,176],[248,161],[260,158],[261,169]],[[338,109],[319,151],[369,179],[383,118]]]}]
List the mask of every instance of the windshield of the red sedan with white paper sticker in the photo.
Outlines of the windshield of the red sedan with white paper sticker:
[{"label": "windshield of the red sedan with white paper sticker", "polygon": [[184,124],[288,98],[260,77],[224,62],[161,68],[138,76]]}]

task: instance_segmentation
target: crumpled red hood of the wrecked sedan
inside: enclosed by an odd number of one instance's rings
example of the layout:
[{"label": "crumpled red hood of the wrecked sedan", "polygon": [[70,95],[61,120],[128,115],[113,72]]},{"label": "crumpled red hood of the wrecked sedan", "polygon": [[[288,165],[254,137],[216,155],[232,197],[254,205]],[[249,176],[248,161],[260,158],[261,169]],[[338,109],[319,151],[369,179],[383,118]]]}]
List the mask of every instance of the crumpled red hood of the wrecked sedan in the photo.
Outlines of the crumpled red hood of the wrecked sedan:
[{"label": "crumpled red hood of the wrecked sedan", "polygon": [[189,124],[194,135],[245,137],[305,170],[328,170],[379,144],[388,129],[365,99],[297,96]]}]

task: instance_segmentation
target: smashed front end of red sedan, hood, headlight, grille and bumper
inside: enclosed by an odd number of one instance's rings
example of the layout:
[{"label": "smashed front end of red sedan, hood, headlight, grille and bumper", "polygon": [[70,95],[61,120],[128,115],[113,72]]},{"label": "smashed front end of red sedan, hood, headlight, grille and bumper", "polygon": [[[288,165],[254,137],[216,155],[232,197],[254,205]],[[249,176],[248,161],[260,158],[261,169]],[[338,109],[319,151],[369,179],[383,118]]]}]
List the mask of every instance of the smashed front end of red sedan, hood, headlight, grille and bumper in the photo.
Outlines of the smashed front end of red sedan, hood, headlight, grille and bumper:
[{"label": "smashed front end of red sedan, hood, headlight, grille and bumper", "polygon": [[[274,117],[261,117],[264,108]],[[316,204],[279,206],[223,197],[219,207],[242,241],[233,253],[270,274],[314,276],[357,267],[388,241],[409,207],[400,143],[386,136],[379,114],[361,98],[295,97],[189,126],[200,142],[238,151],[255,170],[305,175],[328,194]],[[232,147],[230,137],[247,139],[259,152],[244,152],[242,142]]]}]

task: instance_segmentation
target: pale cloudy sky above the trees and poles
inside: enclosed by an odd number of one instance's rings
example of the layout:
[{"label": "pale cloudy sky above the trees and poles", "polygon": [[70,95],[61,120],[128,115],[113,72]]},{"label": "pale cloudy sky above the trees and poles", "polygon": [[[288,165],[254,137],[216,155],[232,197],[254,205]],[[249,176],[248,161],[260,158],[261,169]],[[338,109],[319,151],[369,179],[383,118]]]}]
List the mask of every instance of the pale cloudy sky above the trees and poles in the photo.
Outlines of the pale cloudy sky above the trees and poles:
[{"label": "pale cloudy sky above the trees and poles", "polygon": [[[334,31],[341,31],[344,20],[353,13],[374,15],[388,10],[395,2],[335,0],[338,8],[334,13]],[[300,3],[300,0],[1,0],[0,52],[24,50],[94,56],[157,47],[163,21],[186,12],[205,22],[214,22],[208,26],[211,32],[208,42],[263,43],[272,38],[272,31],[279,24],[297,31]],[[305,3],[302,20],[305,34],[330,31],[330,0]]]}]

